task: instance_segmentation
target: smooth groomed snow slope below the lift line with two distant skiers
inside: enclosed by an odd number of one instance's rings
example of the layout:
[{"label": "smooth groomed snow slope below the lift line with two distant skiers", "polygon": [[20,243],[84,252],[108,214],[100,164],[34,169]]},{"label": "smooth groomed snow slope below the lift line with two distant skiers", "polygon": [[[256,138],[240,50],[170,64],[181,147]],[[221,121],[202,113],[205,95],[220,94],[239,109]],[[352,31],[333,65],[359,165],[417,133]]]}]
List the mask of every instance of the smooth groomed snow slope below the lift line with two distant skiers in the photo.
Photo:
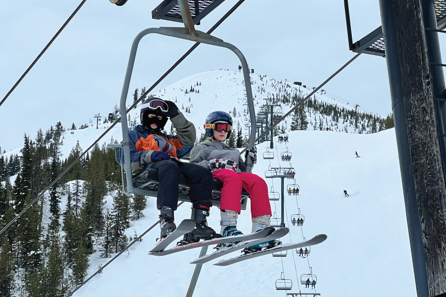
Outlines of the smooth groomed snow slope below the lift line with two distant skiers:
[{"label": "smooth groomed snow slope below the lift line with two distant skiers", "polygon": [[[228,267],[217,267],[214,260],[203,266],[194,296],[283,296],[275,290],[275,281],[283,271],[299,292],[297,276],[309,273],[309,266],[318,277],[316,292],[333,297],[415,296],[409,240],[406,227],[394,130],[377,134],[358,135],[325,131],[295,131],[289,133],[289,150],[300,185],[298,207],[305,215],[304,226],[291,226],[293,242],[320,233],[328,240],[311,249],[302,259],[290,252],[284,258],[271,255],[258,257]],[[277,139],[276,139],[277,140]],[[269,160],[261,155],[267,144],[258,145],[259,163],[254,172],[264,176]],[[279,166],[278,153],[285,151],[277,144],[271,166]],[[356,158],[358,151],[361,158]],[[282,167],[288,166],[281,162]],[[270,186],[271,180],[267,180]],[[285,182],[285,185],[287,183]],[[274,180],[279,192],[279,180]],[[343,197],[343,190],[350,194]],[[141,234],[157,221],[155,198],[149,198],[146,217],[133,222],[129,235]],[[297,213],[296,197],[286,197],[287,225]],[[189,203],[178,208],[177,220],[189,218]],[[279,203],[272,202],[273,212],[279,213]],[[210,226],[219,228],[219,211],[213,208]],[[239,228],[251,229],[249,205],[239,218]],[[199,254],[192,249],[165,257],[147,254],[159,237],[156,227],[140,243],[135,244],[104,271],[93,278],[74,296],[82,297],[146,297],[184,296],[194,266],[188,264]],[[289,237],[283,242],[290,242]],[[208,252],[211,252],[210,250]],[[227,256],[232,257],[236,255]],[[99,263],[108,259],[91,260],[90,274]],[[314,292],[300,285],[302,293]]]}]

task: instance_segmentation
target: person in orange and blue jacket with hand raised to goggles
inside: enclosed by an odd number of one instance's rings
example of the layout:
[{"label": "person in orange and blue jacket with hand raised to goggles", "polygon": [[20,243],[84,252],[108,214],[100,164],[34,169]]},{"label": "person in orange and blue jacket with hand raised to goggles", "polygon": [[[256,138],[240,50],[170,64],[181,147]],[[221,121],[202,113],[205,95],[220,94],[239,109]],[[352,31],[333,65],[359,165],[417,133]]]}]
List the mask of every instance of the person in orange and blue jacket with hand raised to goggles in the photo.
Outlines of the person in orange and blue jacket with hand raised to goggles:
[{"label": "person in orange and blue jacket with hand raised to goggles", "polygon": [[[176,128],[176,136],[161,132],[168,118]],[[196,223],[196,228],[185,234],[184,239],[192,242],[221,237],[206,223],[212,206],[210,200],[213,186],[212,175],[201,166],[178,160],[194,146],[196,134],[194,125],[186,120],[174,102],[156,97],[144,100],[140,119],[142,125],[137,125],[135,130],[128,133],[132,174],[152,179],[153,177],[148,176],[144,169],[158,170],[160,183],[157,192],[157,208],[161,212],[161,238],[167,237],[176,229],[173,212],[178,204],[178,183],[181,174],[190,183],[192,219]],[[122,149],[120,159],[123,164]]]}]

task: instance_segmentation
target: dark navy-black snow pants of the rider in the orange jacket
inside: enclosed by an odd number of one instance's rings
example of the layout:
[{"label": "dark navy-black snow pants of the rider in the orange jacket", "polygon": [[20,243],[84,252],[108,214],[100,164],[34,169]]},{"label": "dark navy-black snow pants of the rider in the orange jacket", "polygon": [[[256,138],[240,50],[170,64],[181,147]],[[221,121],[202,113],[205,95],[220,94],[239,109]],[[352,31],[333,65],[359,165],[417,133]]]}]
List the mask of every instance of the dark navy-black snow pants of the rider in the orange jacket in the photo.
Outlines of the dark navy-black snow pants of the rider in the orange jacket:
[{"label": "dark navy-black snow pants of the rider in the orange jacket", "polygon": [[158,170],[157,208],[163,206],[176,210],[178,205],[178,182],[181,174],[190,184],[189,199],[192,204],[212,207],[212,173],[207,168],[173,160],[154,162],[150,168]]}]

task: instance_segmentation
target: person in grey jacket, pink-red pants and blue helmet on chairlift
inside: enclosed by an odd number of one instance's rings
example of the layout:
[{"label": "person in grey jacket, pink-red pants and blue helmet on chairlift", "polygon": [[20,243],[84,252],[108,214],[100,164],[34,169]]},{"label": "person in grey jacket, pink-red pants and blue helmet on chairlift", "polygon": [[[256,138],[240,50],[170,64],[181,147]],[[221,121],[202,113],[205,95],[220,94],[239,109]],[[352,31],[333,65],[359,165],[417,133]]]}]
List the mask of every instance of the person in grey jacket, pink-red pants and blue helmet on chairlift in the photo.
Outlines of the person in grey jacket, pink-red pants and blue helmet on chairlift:
[{"label": "person in grey jacket, pink-red pants and blue helmet on chairlift", "polygon": [[[265,229],[271,223],[268,186],[258,175],[244,172],[245,163],[238,149],[230,148],[223,143],[231,133],[232,117],[224,111],[213,111],[206,117],[204,128],[207,139],[192,149],[190,162],[208,168],[215,179],[223,182],[220,202],[222,236],[243,234],[237,230],[242,189],[245,189],[251,198],[252,233]],[[255,147],[249,149],[245,157],[248,154],[254,165],[257,160],[257,149]],[[264,247],[265,243],[260,245]],[[260,245],[249,249],[259,249]]]}]

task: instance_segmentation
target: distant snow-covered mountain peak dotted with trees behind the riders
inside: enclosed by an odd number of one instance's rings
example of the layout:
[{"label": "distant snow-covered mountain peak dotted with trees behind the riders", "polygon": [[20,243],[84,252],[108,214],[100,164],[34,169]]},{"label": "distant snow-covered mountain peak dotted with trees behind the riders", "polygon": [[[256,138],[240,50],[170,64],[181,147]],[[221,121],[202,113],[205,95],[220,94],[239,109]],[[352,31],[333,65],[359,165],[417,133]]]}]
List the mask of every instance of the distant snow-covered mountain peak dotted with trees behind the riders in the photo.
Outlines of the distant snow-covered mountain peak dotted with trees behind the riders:
[{"label": "distant snow-covered mountain peak dotted with trees behind the riders", "polygon": [[[260,74],[251,74],[252,80],[252,91],[254,95],[254,101],[256,109],[259,108],[262,104],[265,103],[264,98],[281,98],[284,94],[294,94],[295,92],[301,92],[302,95],[307,95],[311,92],[309,89],[305,89],[301,86],[293,85],[291,82],[286,81],[277,81],[274,78],[269,78],[265,75]],[[197,86],[197,83],[200,84]],[[186,90],[190,90],[193,87],[195,91],[199,90],[199,93],[188,93],[185,94]],[[130,107],[132,103],[132,95],[134,90],[130,90],[129,96],[127,99],[127,105]],[[233,118],[234,126],[237,126],[237,122],[243,127],[244,119],[243,116],[243,103],[245,102],[244,96],[244,86],[243,86],[243,74],[241,72],[229,71],[229,70],[216,70],[216,71],[208,71],[202,72],[198,74],[191,75],[186,77],[165,89],[158,90],[157,93],[153,93],[153,95],[160,97],[162,99],[169,99],[173,101],[177,101],[176,104],[180,108],[180,110],[185,114],[186,118],[195,124],[197,129],[197,137],[200,137],[201,132],[203,132],[202,127],[204,124],[204,120],[206,116],[213,110],[223,110],[229,112],[233,110],[235,107],[237,110],[237,116]],[[190,98],[190,101],[189,101]],[[337,104],[340,107],[345,107],[347,109],[353,109],[352,102],[345,101],[343,99],[336,99],[334,97],[323,96],[320,93],[317,95],[319,100],[326,101],[328,103]],[[108,116],[110,112],[112,112],[112,106],[119,102],[111,102],[109,109],[103,110],[101,113],[103,115],[103,119],[105,116]],[[348,104],[350,103],[350,104]],[[186,113],[186,107],[190,107],[190,113]],[[183,109],[184,108],[184,109]],[[287,112],[291,109],[292,106],[282,105],[281,111]],[[276,111],[280,111],[280,109],[276,109]],[[133,109],[130,111],[130,120],[134,122],[134,124],[139,124],[139,108]],[[55,119],[55,121],[58,119]],[[92,123],[89,121],[92,120]],[[308,114],[308,120],[314,120],[314,113],[310,116]],[[330,123],[330,117],[328,117],[328,121]],[[71,127],[71,123],[64,123],[62,121],[65,129]],[[110,124],[103,124],[100,121],[99,129],[96,129],[96,119],[92,117],[86,120],[80,120],[75,125],[79,128],[81,125],[88,124],[88,128],[86,129],[78,129],[74,130],[74,134],[71,134],[70,130],[63,133],[63,146],[61,148],[62,157],[67,157],[71,148],[76,145],[76,142],[79,140],[80,146],[83,150],[88,148],[102,133],[104,133],[105,129],[110,126]],[[286,127],[286,131],[289,130],[289,126],[291,124],[291,118],[288,117],[283,123]],[[346,123],[345,125],[347,125]],[[93,127],[92,127],[93,125]],[[234,127],[234,128],[235,128]],[[339,124],[339,129],[341,129],[343,125]],[[42,128],[44,131],[46,129]],[[170,121],[167,122],[166,128],[167,131],[170,130]],[[308,127],[309,130],[312,130],[311,124]],[[349,131],[353,131],[349,128]],[[248,130],[244,130],[247,135]],[[122,140],[121,132],[120,132],[120,124],[117,124],[111,132],[109,132],[100,142],[102,145],[105,143],[110,143],[111,139],[113,140]],[[1,144],[0,144],[1,145]],[[7,151],[3,155],[5,157],[9,157],[10,154],[20,154],[20,149],[13,149]]]}]

